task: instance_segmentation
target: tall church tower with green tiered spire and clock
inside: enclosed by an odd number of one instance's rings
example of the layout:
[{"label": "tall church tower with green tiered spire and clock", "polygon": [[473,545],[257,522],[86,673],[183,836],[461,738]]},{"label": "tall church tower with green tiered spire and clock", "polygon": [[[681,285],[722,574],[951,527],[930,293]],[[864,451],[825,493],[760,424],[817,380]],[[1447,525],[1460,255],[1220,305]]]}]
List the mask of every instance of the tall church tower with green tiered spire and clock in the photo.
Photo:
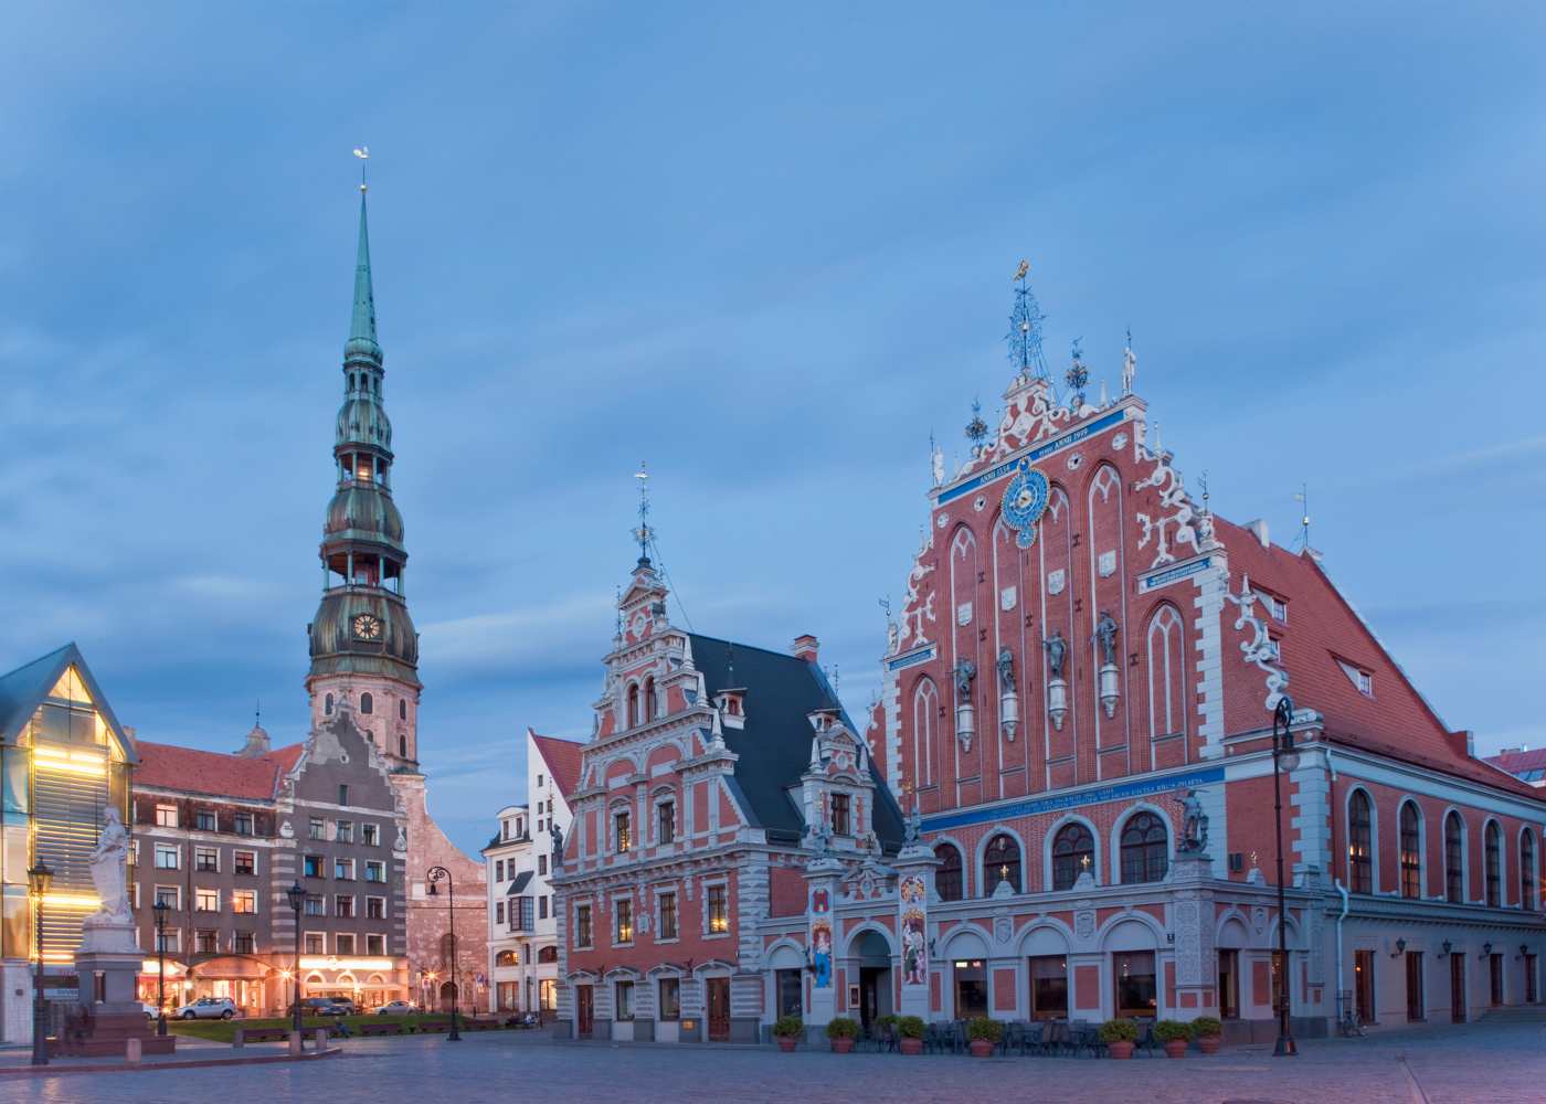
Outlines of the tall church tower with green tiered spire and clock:
[{"label": "tall church tower with green tiered spire and clock", "polygon": [[417,773],[419,634],[404,597],[408,552],[391,498],[391,422],[376,343],[371,246],[360,184],[354,312],[343,346],[343,405],[332,444],[335,487],[322,526],[322,603],[311,639],[311,724],[348,704],[399,773]]}]

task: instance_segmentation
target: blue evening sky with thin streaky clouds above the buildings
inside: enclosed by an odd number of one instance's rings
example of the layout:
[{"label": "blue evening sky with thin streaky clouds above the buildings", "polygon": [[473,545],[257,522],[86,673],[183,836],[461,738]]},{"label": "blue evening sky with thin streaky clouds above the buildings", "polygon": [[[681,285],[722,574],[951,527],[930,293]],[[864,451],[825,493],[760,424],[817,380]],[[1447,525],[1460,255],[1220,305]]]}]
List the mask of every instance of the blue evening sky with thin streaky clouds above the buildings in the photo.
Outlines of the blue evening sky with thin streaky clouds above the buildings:
[{"label": "blue evening sky with thin streaky clouds above the buildings", "polygon": [[[1452,727],[1546,739],[1532,5],[19,5],[0,40],[0,666],[305,734],[357,162],[431,810],[581,736],[634,479],[696,629],[878,598],[1008,379],[1138,390],[1214,507],[1314,544]],[[1524,691],[1524,693],[1521,693]]]}]

